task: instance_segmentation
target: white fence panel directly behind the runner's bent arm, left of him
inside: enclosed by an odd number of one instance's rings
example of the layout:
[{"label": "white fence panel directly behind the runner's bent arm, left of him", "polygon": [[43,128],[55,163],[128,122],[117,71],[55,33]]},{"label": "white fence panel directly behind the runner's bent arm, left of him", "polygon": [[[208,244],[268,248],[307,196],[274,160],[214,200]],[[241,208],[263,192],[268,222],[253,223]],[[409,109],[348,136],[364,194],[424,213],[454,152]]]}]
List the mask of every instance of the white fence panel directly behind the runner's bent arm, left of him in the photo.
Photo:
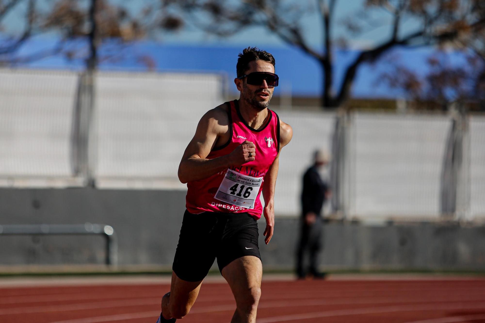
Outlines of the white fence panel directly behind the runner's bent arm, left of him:
[{"label": "white fence panel directly behind the runner's bent arm, left of him", "polygon": [[222,89],[221,75],[100,73],[97,185],[183,189],[178,163]]}]

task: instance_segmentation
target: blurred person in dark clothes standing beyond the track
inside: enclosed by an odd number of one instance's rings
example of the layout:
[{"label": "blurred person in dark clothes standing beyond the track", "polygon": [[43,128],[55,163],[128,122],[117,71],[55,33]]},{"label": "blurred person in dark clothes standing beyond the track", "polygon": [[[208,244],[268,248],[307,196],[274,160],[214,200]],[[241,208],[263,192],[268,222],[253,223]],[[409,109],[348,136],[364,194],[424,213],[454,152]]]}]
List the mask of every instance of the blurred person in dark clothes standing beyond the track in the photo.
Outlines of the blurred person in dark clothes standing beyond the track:
[{"label": "blurred person in dark clothes standing beyond the track", "polygon": [[[299,279],[304,279],[307,275],[314,278],[325,277],[324,273],[318,271],[318,254],[322,249],[322,208],[330,197],[330,189],[328,183],[320,176],[319,170],[327,163],[327,153],[316,150],[313,153],[313,165],[303,175],[300,239],[296,254],[296,275]],[[304,261],[306,253],[309,256],[307,270]]]}]

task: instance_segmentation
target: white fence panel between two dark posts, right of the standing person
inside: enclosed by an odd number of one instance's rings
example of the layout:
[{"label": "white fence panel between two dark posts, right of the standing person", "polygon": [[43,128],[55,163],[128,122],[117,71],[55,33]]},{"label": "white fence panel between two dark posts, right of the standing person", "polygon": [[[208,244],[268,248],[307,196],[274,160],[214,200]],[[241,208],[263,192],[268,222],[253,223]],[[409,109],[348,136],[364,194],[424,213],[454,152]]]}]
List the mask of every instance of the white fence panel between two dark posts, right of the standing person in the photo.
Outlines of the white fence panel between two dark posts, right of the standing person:
[{"label": "white fence panel between two dark posts, right of the standing person", "polygon": [[446,116],[356,113],[352,215],[439,216]]}]

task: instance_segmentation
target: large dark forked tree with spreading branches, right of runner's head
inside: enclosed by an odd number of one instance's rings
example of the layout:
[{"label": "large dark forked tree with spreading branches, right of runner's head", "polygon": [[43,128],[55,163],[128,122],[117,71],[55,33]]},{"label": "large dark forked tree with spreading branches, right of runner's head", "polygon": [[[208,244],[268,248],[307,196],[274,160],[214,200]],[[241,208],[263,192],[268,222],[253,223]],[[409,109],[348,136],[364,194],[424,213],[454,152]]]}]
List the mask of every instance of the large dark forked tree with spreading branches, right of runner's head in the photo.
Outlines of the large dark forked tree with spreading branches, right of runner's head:
[{"label": "large dark forked tree with spreading branches, right of runner's head", "polygon": [[[337,91],[333,93],[333,64],[332,56],[332,26],[333,13],[337,0],[317,0],[317,12],[322,18],[322,50],[310,46],[305,31],[300,22],[304,19],[303,4],[295,0],[164,0],[171,5],[178,6],[184,12],[210,12],[216,24],[210,25],[212,34],[231,34],[249,26],[264,26],[283,42],[299,48],[308,56],[313,57],[322,66],[324,75],[322,106],[335,107],[342,104],[350,96],[350,88],[356,77],[358,67],[366,62],[373,62],[383,53],[395,46],[427,46],[442,43],[453,43],[464,39],[467,35],[475,34],[485,28],[485,4],[483,0],[366,0],[368,10],[384,9],[392,15],[390,34],[388,39],[368,50],[359,53],[356,60],[344,73],[344,80]],[[340,2],[344,3],[344,2]],[[209,9],[210,10],[209,10]],[[208,11],[209,10],[209,11]],[[230,16],[230,19],[226,19]],[[367,18],[366,18],[367,17]],[[371,23],[372,18],[364,17],[364,21]],[[403,20],[419,19],[420,29],[407,35],[401,35]],[[349,20],[355,25],[355,18]],[[201,24],[204,24],[201,22]],[[221,25],[224,25],[221,27]],[[206,27],[208,25],[206,24]],[[360,26],[356,32],[362,32]],[[205,28],[210,32],[210,28]],[[469,43],[470,40],[463,41]],[[466,46],[466,45],[465,45]]]}]

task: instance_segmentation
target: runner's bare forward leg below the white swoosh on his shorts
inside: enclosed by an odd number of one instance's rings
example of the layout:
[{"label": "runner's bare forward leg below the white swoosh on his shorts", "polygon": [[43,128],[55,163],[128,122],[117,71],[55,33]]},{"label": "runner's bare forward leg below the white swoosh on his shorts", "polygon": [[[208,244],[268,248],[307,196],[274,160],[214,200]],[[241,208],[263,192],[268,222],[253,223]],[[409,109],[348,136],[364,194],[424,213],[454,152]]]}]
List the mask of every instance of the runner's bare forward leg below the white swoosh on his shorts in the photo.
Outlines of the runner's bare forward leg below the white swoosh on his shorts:
[{"label": "runner's bare forward leg below the white swoosh on his shorts", "polygon": [[231,323],[256,322],[262,274],[261,260],[255,256],[237,258],[222,269],[222,275],[236,300]]}]

